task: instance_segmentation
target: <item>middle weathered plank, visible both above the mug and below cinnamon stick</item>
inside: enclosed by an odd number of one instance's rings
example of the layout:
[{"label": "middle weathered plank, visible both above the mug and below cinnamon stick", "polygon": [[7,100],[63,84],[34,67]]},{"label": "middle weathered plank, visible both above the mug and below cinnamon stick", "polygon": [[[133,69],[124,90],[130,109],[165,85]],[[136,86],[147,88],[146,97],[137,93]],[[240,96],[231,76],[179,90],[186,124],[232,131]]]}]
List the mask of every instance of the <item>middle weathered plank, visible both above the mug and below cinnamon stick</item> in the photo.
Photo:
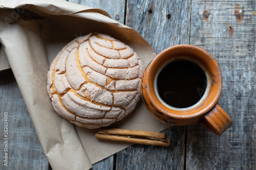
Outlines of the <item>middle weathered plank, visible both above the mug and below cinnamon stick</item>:
[{"label": "middle weathered plank, visible both above the mug and below cinnamon stick", "polygon": [[[126,25],[138,31],[156,54],[189,43],[190,1],[127,1]],[[150,114],[150,113],[149,113]],[[135,144],[117,153],[117,169],[183,169],[185,127],[163,131],[169,147]]]}]

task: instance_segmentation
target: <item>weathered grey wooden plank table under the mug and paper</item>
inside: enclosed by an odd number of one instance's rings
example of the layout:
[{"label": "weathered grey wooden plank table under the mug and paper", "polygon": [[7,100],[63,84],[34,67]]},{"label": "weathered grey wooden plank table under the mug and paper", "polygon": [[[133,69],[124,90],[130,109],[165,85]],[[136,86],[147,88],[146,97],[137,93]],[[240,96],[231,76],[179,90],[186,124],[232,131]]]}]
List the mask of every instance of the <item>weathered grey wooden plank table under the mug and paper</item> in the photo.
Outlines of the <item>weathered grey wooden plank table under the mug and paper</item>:
[{"label": "weathered grey wooden plank table under the mug and paper", "polygon": [[[219,104],[233,120],[222,136],[201,126],[170,127],[163,131],[169,147],[134,144],[92,169],[256,169],[255,1],[70,2],[105,10],[139,32],[156,54],[176,44],[204,48],[221,67]],[[0,72],[0,94],[0,143],[5,112],[9,122],[9,166],[0,144],[0,169],[51,169],[11,69]]]}]

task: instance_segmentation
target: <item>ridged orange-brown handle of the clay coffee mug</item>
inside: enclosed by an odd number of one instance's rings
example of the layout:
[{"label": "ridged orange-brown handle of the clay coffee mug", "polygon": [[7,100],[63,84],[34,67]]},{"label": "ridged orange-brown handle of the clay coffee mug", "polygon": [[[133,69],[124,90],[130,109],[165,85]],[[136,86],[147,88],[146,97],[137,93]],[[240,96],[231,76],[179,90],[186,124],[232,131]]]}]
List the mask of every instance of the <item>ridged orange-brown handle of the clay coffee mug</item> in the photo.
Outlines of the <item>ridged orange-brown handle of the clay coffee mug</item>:
[{"label": "ridged orange-brown handle of the clay coffee mug", "polygon": [[227,113],[217,103],[214,108],[203,115],[203,120],[198,124],[220,136],[233,123]]}]

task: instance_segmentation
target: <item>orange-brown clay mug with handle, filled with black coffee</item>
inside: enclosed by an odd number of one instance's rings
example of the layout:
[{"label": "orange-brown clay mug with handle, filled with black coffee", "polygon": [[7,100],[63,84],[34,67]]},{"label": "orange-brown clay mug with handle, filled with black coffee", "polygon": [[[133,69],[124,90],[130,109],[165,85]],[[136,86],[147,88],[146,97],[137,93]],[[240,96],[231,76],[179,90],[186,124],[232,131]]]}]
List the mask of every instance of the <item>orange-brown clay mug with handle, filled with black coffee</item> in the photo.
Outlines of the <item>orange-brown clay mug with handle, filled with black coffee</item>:
[{"label": "orange-brown clay mug with handle, filled with black coffee", "polygon": [[148,64],[141,80],[142,100],[161,122],[173,126],[200,124],[217,135],[232,125],[217,103],[221,90],[217,61],[194,45],[165,49]]}]

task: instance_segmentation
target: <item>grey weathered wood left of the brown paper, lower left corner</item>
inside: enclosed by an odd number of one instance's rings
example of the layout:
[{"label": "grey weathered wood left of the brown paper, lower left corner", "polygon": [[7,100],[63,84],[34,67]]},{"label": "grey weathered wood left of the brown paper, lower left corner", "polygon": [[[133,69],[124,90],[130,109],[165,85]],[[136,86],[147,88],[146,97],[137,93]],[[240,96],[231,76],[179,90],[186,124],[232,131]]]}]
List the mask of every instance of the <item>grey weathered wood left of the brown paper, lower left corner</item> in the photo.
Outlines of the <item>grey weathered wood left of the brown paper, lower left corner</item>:
[{"label": "grey weathered wood left of the brown paper, lower left corner", "polygon": [[[0,72],[0,95],[0,169],[48,169],[48,160],[11,69]],[[8,118],[4,118],[5,112]],[[6,119],[8,124],[4,124]],[[4,125],[8,126],[8,134],[4,134]],[[6,153],[8,166],[4,165]]]}]

